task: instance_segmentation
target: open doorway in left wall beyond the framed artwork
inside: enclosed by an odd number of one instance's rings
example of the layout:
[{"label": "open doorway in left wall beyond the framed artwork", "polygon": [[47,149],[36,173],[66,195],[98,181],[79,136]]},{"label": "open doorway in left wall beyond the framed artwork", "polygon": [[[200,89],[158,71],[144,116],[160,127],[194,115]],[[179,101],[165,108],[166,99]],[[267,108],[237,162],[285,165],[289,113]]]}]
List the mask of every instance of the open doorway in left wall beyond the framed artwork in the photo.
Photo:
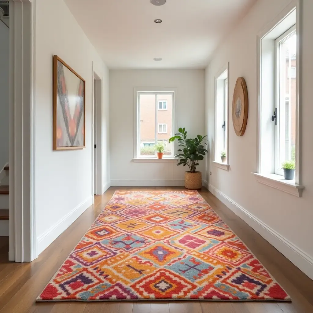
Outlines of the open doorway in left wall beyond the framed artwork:
[{"label": "open doorway in left wall beyond the framed artwork", "polygon": [[93,191],[103,193],[102,187],[102,80],[93,72]]}]

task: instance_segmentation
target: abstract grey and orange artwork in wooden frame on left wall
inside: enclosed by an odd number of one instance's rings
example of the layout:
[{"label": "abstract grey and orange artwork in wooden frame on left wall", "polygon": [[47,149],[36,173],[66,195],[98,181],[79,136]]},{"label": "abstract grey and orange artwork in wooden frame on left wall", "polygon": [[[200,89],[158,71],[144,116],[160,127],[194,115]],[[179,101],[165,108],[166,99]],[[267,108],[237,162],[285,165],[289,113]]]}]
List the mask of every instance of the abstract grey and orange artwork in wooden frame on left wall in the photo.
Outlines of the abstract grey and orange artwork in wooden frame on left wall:
[{"label": "abstract grey and orange artwork in wooden frame on left wall", "polygon": [[85,80],[53,57],[53,150],[85,148]]}]

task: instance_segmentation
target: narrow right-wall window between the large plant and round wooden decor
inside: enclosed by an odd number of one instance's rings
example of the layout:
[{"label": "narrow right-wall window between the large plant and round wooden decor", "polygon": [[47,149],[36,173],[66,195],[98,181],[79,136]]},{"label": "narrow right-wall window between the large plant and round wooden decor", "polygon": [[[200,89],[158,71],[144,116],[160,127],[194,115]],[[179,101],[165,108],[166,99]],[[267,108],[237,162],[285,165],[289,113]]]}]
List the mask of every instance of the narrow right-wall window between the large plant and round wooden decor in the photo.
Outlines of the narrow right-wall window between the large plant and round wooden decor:
[{"label": "narrow right-wall window between the large plant and round wooden decor", "polygon": [[215,79],[215,162],[222,162],[226,152],[228,164],[228,66]]}]

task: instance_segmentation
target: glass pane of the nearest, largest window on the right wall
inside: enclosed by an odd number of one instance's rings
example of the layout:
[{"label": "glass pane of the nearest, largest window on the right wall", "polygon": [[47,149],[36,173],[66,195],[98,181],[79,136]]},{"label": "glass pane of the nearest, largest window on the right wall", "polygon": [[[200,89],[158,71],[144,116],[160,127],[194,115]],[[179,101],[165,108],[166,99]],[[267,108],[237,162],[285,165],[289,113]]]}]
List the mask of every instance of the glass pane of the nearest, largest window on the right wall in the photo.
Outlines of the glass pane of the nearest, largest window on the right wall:
[{"label": "glass pane of the nearest, largest window on the right wall", "polygon": [[280,43],[279,49],[279,168],[295,161],[296,35]]}]

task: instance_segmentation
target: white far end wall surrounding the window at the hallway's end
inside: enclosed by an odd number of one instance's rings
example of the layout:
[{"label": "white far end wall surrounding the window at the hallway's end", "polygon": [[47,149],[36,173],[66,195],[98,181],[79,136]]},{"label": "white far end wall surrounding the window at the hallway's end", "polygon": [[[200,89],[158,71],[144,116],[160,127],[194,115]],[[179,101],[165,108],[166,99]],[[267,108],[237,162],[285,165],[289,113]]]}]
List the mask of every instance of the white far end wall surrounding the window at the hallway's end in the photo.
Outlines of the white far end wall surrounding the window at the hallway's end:
[{"label": "white far end wall surrounding the window at the hallway's end", "polygon": [[[111,185],[183,184],[186,167],[176,163],[134,163],[134,88],[177,88],[177,125],[188,136],[204,135],[204,70],[110,70]],[[204,161],[198,167],[204,172]]]}]

